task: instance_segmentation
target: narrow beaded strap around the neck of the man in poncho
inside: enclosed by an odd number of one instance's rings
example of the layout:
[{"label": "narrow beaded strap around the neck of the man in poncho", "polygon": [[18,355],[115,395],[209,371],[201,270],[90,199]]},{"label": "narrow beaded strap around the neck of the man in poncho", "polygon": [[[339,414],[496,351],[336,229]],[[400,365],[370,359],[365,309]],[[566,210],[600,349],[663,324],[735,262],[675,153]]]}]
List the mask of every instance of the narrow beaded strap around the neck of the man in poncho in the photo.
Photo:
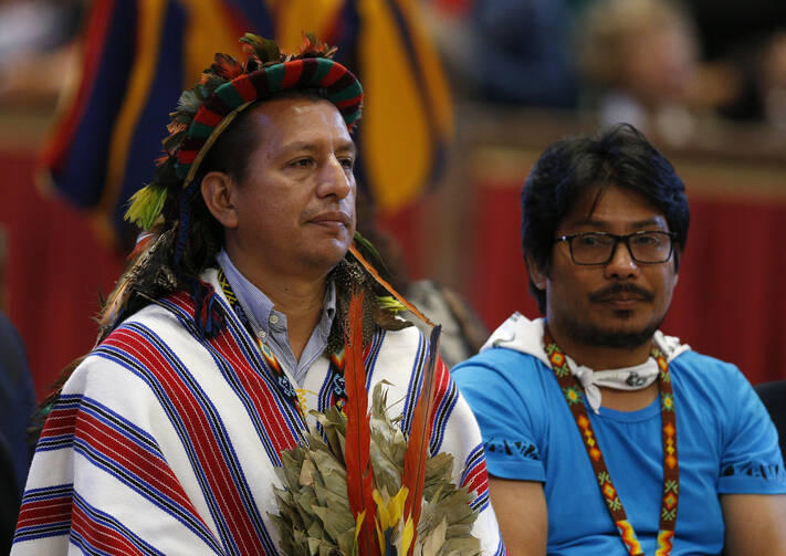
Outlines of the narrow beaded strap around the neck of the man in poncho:
[{"label": "narrow beaded strap around the neck of the man in poncho", "polygon": [[[221,285],[221,290],[227,296],[227,301],[229,301],[230,306],[237,313],[238,318],[240,318],[240,321],[243,323],[251,336],[256,338],[256,344],[260,347],[262,358],[264,359],[264,363],[268,368],[273,373],[279,389],[290,400],[292,406],[297,409],[297,412],[301,415],[301,417],[305,418],[303,403],[301,403],[301,400],[297,396],[297,390],[292,386],[292,381],[290,381],[289,377],[286,376],[286,373],[284,373],[284,369],[281,367],[281,363],[279,363],[279,359],[275,357],[275,354],[273,354],[273,350],[270,348],[270,346],[268,346],[268,344],[262,342],[256,336],[256,334],[254,334],[253,329],[251,328],[251,324],[249,323],[249,319],[245,316],[243,307],[240,306],[238,296],[234,295],[232,286],[229,285],[229,280],[227,280],[227,275],[220,267],[218,271],[218,282]],[[344,388],[344,364],[346,360],[344,358],[344,350],[342,349],[336,354],[331,354],[329,360],[331,366],[327,373],[329,375],[328,380],[331,384],[331,392],[333,395],[332,405],[338,406],[339,409],[343,409],[347,399],[347,392]]]}]

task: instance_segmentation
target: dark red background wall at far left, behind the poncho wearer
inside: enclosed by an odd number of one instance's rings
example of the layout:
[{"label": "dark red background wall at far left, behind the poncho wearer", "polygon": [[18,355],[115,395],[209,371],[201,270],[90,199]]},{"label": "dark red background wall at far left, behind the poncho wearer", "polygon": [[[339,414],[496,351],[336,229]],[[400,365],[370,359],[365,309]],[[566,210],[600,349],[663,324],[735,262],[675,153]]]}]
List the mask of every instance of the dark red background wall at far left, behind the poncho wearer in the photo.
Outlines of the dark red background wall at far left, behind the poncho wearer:
[{"label": "dark red background wall at far left, behind the poncho wearer", "polygon": [[41,398],[60,369],[93,346],[98,295],[112,291],[124,262],[84,214],[40,195],[33,162],[30,153],[0,151],[0,225],[9,242],[6,312]]}]

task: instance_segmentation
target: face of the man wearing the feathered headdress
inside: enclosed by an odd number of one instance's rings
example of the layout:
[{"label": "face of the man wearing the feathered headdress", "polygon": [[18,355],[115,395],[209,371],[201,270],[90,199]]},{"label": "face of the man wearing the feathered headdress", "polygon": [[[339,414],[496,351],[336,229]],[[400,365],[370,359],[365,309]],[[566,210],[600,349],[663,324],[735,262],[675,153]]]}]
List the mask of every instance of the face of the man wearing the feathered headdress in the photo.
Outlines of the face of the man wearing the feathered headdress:
[{"label": "face of the man wearing the feathered headdress", "polygon": [[346,253],[355,233],[355,145],[328,101],[282,98],[253,118],[256,149],[232,190],[237,227],[227,229],[239,267],[321,276]]}]

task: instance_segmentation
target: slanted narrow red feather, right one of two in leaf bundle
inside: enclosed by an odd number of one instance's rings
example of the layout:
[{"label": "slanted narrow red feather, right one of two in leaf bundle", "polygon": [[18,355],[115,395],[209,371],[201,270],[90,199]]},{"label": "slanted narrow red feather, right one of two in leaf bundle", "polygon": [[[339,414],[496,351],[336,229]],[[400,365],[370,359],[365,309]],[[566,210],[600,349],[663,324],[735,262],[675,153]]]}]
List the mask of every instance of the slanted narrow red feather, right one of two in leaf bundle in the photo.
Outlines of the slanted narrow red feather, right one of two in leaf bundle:
[{"label": "slanted narrow red feather, right one of two in leaf bundle", "polygon": [[[412,516],[415,524],[415,536],[409,547],[409,554],[415,549],[415,541],[418,538],[418,521],[423,502],[423,482],[426,480],[426,460],[429,457],[428,448],[431,438],[432,406],[434,398],[434,384],[437,373],[434,373],[439,359],[439,335],[441,326],[431,329],[429,339],[429,358],[423,368],[423,381],[418,395],[418,401],[412,415],[412,426],[409,429],[409,440],[407,441],[407,453],[404,457],[404,476],[401,483],[409,489],[409,495],[404,503],[404,515]],[[440,365],[442,363],[440,361]]]}]

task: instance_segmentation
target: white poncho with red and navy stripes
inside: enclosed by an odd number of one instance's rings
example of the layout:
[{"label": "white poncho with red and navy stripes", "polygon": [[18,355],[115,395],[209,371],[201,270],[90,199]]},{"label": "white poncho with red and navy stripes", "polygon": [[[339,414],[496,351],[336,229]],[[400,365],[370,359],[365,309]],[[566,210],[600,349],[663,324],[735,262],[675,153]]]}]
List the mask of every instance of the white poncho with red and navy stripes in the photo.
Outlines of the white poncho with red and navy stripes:
[{"label": "white poncho with red and navy stripes", "polygon": [[[226,315],[217,337],[199,337],[178,293],[125,321],[69,379],[36,448],[13,555],[279,554],[274,469],[315,422],[276,387],[216,271],[205,279]],[[391,384],[404,430],[426,350],[415,327],[378,329],[366,358],[367,386]],[[298,389],[307,410],[333,402],[328,367],[318,358]],[[441,363],[437,386],[430,449],[454,457],[480,511],[473,533],[484,554],[502,553],[480,431]]]}]

